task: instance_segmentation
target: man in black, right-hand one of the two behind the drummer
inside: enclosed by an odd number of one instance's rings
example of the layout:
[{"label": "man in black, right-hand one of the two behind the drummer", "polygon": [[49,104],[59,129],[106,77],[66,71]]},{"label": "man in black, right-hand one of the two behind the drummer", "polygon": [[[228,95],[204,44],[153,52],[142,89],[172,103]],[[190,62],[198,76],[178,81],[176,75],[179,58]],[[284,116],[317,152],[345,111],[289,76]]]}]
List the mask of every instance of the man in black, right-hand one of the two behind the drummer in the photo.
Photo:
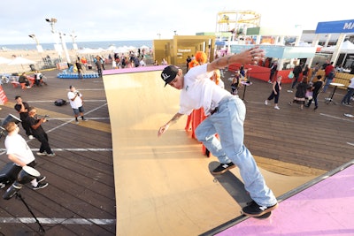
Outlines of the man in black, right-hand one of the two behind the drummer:
[{"label": "man in black, right-hand one of the two behind the drummer", "polygon": [[48,134],[45,133],[42,128],[42,124],[47,122],[46,118],[37,118],[37,110],[35,107],[28,108],[28,123],[31,125],[32,133],[35,138],[41,142],[41,147],[39,148],[39,152],[36,154],[38,156],[56,156],[56,154],[51,150],[50,143],[48,140]]}]

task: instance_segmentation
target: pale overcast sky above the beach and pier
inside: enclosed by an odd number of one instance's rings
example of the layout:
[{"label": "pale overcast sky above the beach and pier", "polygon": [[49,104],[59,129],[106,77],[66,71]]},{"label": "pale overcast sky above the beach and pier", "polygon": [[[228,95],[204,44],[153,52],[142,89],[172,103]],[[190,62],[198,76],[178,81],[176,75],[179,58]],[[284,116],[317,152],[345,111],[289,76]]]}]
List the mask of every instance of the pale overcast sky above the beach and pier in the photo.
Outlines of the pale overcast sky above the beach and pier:
[{"label": "pale overcast sky above the beach and pier", "polygon": [[[0,46],[54,42],[50,24],[57,31],[76,34],[76,42],[169,39],[179,35],[214,32],[219,11],[256,11],[261,26],[315,29],[321,21],[354,19],[350,1],[327,4],[313,0],[4,0],[0,14]],[[347,6],[347,7],[346,7]],[[66,36],[65,42],[72,42]]]}]

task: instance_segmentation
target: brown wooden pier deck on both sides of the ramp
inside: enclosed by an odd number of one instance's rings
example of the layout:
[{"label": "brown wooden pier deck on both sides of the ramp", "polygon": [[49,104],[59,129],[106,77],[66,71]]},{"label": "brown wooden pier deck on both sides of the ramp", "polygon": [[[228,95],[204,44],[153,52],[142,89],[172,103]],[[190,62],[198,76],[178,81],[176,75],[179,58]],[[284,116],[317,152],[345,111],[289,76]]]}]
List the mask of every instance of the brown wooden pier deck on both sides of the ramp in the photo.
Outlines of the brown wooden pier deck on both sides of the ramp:
[{"label": "brown wooden pier deck on both sides of the ramp", "polygon": [[[56,224],[53,221],[42,224],[48,235],[115,235],[112,133],[103,80],[58,79],[57,72],[44,72],[49,79],[47,87],[21,90],[12,88],[11,84],[3,86],[9,103],[2,106],[0,118],[16,114],[14,96],[22,95],[24,101],[39,109],[39,114],[50,115],[50,122],[43,127],[49,134],[51,148],[57,153],[55,157],[37,156],[37,169],[47,176],[50,186],[36,192],[24,187],[20,194],[36,217],[58,220]],[[224,82],[228,87],[230,81],[226,78]],[[323,101],[328,93],[320,95],[318,110],[299,110],[296,105],[288,105],[293,94],[287,92],[289,85],[285,84],[281,91],[281,110],[274,110],[273,105],[264,104],[271,85],[258,80],[252,82],[245,95],[245,145],[260,166],[268,171],[301,176],[329,171],[352,159],[354,119],[343,114],[353,113],[353,107],[327,105]],[[70,105],[54,106],[56,99],[66,98],[69,85],[84,95],[88,122],[75,125]],[[242,92],[243,89],[241,96]],[[344,90],[338,90],[335,101],[340,102],[343,94]],[[3,140],[1,166],[8,162]],[[34,151],[39,148],[38,141],[28,144]],[[24,217],[31,215],[19,200],[0,198],[0,202],[0,234],[35,235],[38,225],[26,223]],[[10,219],[25,223],[4,224]]]}]

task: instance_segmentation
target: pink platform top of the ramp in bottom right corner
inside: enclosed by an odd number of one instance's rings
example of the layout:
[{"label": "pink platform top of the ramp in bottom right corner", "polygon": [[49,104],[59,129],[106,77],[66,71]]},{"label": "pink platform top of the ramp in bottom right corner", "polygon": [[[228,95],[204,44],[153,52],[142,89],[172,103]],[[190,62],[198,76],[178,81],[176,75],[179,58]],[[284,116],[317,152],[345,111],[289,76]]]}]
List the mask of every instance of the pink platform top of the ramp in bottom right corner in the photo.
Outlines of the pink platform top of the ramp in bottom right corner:
[{"label": "pink platform top of the ramp in bottom right corner", "polygon": [[216,235],[354,235],[354,165],[281,202],[269,219],[249,218]]}]

